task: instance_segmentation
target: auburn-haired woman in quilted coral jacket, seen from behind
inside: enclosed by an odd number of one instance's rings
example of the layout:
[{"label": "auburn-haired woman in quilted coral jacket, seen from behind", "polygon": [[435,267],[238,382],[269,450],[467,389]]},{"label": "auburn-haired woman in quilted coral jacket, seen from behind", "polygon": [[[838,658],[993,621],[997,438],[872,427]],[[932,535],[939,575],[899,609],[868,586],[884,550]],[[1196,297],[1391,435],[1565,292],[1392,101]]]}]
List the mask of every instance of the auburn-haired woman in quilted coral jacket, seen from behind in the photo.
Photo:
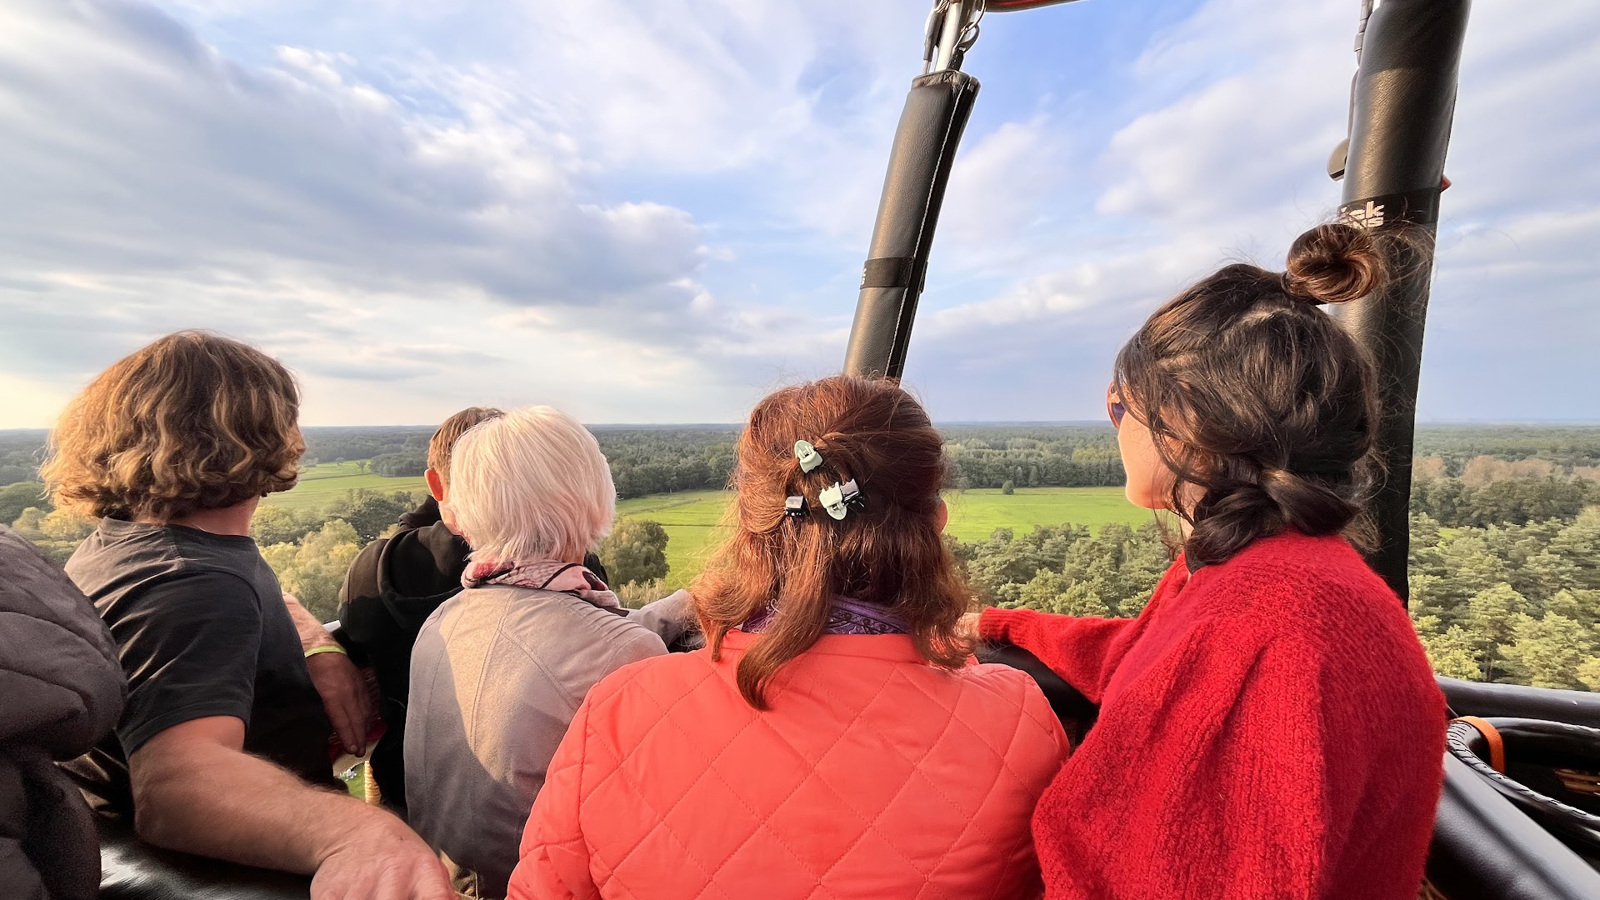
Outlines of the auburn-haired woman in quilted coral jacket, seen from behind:
[{"label": "auburn-haired woman in quilted coral jacket, seen from behind", "polygon": [[589,692],[512,897],[1038,894],[1027,817],[1067,741],[957,634],[941,448],[893,381],[755,407],[733,535],[693,588],[709,645]]}]

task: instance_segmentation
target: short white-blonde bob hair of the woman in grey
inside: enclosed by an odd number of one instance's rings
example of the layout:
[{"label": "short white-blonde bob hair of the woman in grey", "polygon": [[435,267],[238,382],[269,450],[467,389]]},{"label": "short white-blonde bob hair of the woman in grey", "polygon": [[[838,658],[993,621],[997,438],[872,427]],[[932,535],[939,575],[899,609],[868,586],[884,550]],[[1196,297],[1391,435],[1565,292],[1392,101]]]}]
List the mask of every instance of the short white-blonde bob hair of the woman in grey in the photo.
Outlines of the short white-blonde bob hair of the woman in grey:
[{"label": "short white-blonde bob hair of the woman in grey", "polygon": [[450,508],[472,562],[579,562],[611,533],[616,488],[600,444],[573,416],[530,407],[456,440]]}]

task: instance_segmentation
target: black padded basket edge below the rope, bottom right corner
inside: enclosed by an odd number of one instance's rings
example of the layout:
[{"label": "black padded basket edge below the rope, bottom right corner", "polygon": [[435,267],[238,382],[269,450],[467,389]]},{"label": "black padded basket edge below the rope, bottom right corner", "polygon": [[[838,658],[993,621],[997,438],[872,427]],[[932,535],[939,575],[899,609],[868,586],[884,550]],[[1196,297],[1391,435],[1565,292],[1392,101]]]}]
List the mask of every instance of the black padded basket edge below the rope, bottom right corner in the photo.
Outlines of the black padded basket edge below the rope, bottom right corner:
[{"label": "black padded basket edge below the rope, bottom right corner", "polygon": [[1450,753],[1427,878],[1450,900],[1600,897],[1600,873]]}]

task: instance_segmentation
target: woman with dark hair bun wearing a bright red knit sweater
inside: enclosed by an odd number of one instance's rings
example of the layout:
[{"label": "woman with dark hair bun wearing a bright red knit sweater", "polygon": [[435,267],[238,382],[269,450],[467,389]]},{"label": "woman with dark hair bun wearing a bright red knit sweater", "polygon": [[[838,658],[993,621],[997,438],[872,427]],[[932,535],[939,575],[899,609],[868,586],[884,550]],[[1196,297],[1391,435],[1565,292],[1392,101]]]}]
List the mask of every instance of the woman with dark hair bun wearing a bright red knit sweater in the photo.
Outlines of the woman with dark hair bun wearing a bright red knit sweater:
[{"label": "woman with dark hair bun wearing a bright red knit sweater", "polygon": [[1144,612],[979,618],[1101,708],[1034,818],[1051,900],[1416,897],[1445,705],[1352,546],[1373,370],[1318,309],[1379,287],[1384,263],[1336,224],[1286,269],[1218,271],[1117,357],[1128,500],[1182,525]]}]

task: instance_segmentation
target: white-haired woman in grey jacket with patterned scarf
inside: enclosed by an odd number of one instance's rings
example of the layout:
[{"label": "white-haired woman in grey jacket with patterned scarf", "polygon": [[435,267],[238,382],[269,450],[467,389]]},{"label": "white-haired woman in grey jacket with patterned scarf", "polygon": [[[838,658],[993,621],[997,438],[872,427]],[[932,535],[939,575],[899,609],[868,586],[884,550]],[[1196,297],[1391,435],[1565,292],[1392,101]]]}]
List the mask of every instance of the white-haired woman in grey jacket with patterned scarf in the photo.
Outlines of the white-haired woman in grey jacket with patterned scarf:
[{"label": "white-haired woman in grey jacket with patterned scarf", "polygon": [[616,490],[598,442],[566,413],[485,421],[453,456],[450,514],[472,557],[466,589],[429,617],[411,657],[406,798],[456,889],[504,897],[578,705],[606,674],[664,655],[648,623],[670,631],[688,617],[686,596],[629,618],[584,567],[611,530]]}]

